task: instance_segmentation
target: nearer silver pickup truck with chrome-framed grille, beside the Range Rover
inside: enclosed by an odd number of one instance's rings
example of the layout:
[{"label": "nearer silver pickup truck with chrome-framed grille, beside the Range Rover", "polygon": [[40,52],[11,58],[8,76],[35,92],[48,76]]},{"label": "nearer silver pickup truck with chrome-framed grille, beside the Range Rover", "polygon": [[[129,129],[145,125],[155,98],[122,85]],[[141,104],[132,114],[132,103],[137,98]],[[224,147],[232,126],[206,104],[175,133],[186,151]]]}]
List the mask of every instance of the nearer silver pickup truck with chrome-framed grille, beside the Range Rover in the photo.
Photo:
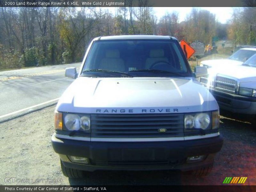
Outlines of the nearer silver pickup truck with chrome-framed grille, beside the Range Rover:
[{"label": "nearer silver pickup truck with chrome-framed grille, beside the Range Rover", "polygon": [[[248,49],[243,49],[248,51]],[[206,86],[217,100],[220,109],[250,117],[256,123],[256,49],[251,48],[246,54],[254,53],[248,60],[236,65],[229,62],[219,65],[219,60],[204,61],[215,63],[208,68],[208,75],[199,81]],[[253,52],[252,52],[253,51]],[[237,51],[238,52],[238,51]],[[236,54],[236,53],[235,53]],[[203,62],[202,62],[203,63]]]}]

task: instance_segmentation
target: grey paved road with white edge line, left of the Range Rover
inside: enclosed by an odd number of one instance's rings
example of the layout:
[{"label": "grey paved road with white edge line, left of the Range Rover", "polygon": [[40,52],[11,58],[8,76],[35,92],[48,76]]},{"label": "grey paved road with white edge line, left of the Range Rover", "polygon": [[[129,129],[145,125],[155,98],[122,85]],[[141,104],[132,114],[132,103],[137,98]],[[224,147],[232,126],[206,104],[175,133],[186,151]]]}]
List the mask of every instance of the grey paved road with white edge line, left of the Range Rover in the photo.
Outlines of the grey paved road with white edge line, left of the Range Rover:
[{"label": "grey paved road with white edge line, left of the Range Rover", "polygon": [[[0,72],[0,122],[33,110],[38,104],[49,105],[65,91],[74,79],[66,78],[65,68],[81,63],[45,66]],[[40,107],[44,106],[40,105]],[[33,108],[29,108],[35,106]],[[29,108],[24,110],[25,108]],[[22,111],[24,110],[24,111]],[[18,113],[15,113],[20,111]],[[10,113],[15,113],[10,115]]]}]

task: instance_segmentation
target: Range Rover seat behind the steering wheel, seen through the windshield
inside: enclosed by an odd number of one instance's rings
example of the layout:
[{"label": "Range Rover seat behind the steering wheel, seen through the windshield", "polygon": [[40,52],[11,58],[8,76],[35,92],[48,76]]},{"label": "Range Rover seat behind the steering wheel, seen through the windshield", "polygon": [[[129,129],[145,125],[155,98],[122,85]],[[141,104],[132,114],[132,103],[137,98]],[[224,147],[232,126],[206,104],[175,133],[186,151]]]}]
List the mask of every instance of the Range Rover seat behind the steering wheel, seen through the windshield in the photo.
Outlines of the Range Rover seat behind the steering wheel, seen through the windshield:
[{"label": "Range Rover seat behind the steering wheel, seen through the windshield", "polygon": [[146,69],[151,68],[151,66],[157,61],[167,61],[168,58],[164,57],[163,49],[152,49],[149,53],[149,58],[146,60]]}]

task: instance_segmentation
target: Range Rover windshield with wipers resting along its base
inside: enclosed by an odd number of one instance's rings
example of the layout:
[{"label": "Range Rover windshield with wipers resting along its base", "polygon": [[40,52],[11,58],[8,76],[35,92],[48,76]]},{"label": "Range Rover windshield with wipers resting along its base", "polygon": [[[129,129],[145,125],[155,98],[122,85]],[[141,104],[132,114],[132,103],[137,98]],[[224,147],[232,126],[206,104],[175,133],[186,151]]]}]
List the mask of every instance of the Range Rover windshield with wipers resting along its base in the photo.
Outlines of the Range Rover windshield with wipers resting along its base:
[{"label": "Range Rover windshield with wipers resting along its base", "polygon": [[178,46],[170,40],[95,41],[81,76],[191,76]]}]

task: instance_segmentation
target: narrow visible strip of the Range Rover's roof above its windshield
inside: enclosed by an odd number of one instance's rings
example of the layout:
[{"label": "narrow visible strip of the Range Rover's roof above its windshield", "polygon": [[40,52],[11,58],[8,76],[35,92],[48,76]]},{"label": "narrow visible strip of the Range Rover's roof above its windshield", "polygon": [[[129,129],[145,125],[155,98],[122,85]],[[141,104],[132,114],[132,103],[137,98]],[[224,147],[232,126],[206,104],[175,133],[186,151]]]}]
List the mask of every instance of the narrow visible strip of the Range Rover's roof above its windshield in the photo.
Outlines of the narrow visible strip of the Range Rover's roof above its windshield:
[{"label": "narrow visible strip of the Range Rover's roof above its windshield", "polygon": [[120,36],[103,36],[103,37],[97,37],[94,40],[135,40],[135,39],[158,39],[158,40],[169,40],[169,39],[175,39],[175,37],[171,36],[157,36],[157,35],[120,35]]}]

